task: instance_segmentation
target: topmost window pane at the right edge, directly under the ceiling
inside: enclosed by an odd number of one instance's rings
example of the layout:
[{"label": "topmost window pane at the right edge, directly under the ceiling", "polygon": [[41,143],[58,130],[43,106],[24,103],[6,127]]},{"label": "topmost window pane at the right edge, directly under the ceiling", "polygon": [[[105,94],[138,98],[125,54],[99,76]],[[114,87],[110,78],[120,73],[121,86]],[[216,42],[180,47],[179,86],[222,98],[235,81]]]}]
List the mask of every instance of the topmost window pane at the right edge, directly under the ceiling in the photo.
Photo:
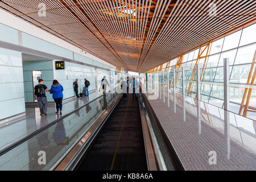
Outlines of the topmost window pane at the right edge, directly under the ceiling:
[{"label": "topmost window pane at the right edge, directly under the ceiling", "polygon": [[240,46],[256,42],[256,23],[249,27],[243,28]]}]

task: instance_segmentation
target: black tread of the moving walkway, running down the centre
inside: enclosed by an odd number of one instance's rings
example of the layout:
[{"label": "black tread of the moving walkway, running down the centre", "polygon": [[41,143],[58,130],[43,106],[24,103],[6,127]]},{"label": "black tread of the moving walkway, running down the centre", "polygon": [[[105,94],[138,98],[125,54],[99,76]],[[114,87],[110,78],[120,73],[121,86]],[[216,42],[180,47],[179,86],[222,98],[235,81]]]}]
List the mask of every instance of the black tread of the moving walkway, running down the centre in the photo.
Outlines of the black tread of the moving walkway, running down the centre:
[{"label": "black tread of the moving walkway, running down the centre", "polygon": [[[118,142],[119,140],[119,142]],[[85,153],[77,170],[147,170],[137,100],[121,100]]]}]

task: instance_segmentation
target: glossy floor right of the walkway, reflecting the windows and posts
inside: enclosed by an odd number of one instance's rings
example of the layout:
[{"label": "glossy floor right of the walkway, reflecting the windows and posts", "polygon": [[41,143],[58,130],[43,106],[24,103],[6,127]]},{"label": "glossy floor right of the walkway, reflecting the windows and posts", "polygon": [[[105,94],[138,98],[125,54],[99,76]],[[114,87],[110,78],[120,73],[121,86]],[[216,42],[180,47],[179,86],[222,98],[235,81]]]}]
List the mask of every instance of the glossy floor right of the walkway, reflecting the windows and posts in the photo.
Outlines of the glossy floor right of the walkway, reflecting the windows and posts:
[{"label": "glossy floor right of the walkway, reflecting the windows and posts", "polygon": [[165,91],[148,101],[186,170],[256,170],[256,121]]}]

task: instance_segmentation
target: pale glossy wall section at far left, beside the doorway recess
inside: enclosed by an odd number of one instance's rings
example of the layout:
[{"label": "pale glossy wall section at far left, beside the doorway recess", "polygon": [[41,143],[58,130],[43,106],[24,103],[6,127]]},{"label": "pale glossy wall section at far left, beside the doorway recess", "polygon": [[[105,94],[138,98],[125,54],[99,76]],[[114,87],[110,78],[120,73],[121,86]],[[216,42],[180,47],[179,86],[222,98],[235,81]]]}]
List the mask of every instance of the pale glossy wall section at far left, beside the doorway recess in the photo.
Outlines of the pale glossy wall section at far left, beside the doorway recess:
[{"label": "pale glossy wall section at far left, beside the doorway recess", "polygon": [[0,48],[0,119],[25,111],[22,54]]}]

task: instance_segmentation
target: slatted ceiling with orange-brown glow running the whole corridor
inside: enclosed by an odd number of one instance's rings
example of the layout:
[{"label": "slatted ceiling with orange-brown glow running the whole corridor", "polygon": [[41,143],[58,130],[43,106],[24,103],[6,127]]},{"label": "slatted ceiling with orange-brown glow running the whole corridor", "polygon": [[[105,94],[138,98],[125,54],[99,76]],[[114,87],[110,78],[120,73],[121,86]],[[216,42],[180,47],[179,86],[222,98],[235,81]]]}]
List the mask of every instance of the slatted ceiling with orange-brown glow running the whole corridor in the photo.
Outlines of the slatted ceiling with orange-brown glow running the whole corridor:
[{"label": "slatted ceiling with orange-brown glow running the whole corridor", "polygon": [[[47,16],[38,16],[39,3]],[[216,3],[217,15],[209,15]],[[2,0],[0,7],[128,71],[144,72],[256,20],[256,1]]]}]

